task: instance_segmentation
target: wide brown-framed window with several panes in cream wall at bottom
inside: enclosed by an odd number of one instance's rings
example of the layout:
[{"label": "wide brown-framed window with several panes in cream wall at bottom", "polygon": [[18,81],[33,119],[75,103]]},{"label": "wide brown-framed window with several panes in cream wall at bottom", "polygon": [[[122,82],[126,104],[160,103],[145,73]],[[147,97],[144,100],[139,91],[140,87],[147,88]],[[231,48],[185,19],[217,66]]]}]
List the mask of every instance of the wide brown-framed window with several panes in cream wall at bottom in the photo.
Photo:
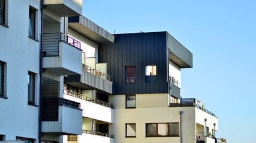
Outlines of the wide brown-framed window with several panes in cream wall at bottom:
[{"label": "wide brown-framed window with several panes in cream wall at bottom", "polygon": [[179,123],[146,123],[146,136],[179,136]]}]

